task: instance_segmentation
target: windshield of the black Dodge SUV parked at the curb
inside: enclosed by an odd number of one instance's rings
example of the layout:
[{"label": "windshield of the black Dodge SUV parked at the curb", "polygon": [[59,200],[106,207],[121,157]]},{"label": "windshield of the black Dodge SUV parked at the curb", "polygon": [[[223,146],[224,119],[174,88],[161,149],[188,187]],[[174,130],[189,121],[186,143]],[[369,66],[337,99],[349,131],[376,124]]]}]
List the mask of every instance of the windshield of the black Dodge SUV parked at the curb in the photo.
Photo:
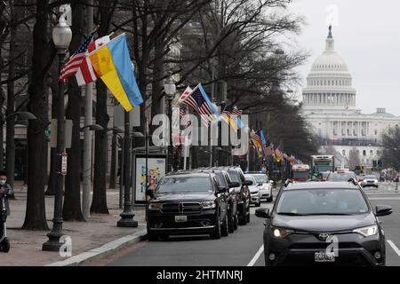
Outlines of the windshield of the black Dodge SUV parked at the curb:
[{"label": "windshield of the black Dodge SUV parked at the curb", "polygon": [[164,177],[156,193],[212,192],[209,177]]}]

